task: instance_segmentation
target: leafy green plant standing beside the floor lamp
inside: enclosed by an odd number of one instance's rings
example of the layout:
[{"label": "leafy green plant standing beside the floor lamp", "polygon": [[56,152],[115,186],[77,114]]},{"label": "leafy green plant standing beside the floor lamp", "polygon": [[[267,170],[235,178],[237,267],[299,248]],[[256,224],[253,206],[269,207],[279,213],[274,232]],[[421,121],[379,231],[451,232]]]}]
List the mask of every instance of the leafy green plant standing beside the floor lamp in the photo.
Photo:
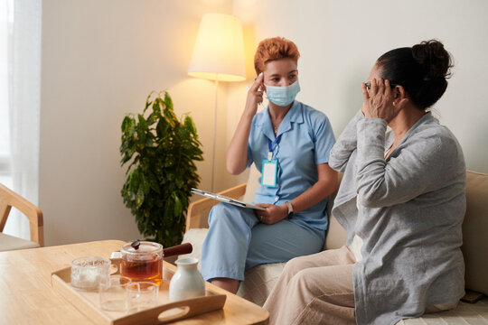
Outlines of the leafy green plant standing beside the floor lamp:
[{"label": "leafy green plant standing beside the floor lamp", "polygon": [[121,129],[121,165],[129,163],[121,190],[126,207],[147,240],[180,244],[188,198],[200,182],[195,161],[203,160],[192,117],[178,119],[169,94],[152,92],[143,114],[125,116]]}]

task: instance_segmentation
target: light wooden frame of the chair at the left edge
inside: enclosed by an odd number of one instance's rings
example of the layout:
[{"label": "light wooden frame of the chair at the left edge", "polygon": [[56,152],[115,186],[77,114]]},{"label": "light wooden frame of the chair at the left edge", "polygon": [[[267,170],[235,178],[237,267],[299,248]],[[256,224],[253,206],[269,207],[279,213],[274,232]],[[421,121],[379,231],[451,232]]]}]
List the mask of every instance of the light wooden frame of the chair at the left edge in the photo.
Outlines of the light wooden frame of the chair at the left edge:
[{"label": "light wooden frame of the chair at the left edge", "polygon": [[42,210],[22,196],[0,184],[0,232],[4,231],[5,223],[14,207],[29,219],[31,241],[44,246],[44,232],[42,225]]}]

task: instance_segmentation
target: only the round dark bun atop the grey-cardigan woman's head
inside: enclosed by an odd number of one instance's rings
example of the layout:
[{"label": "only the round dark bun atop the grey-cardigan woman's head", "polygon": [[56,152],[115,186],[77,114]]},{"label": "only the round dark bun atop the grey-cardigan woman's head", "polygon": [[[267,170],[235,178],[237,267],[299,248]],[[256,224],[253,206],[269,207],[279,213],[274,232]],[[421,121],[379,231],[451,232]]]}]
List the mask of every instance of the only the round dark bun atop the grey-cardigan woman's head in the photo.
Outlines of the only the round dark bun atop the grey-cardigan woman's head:
[{"label": "only the round dark bun atop the grey-cardigan woman's head", "polygon": [[412,47],[414,60],[424,70],[423,79],[448,79],[451,77],[451,56],[444,45],[436,40],[424,41]]}]

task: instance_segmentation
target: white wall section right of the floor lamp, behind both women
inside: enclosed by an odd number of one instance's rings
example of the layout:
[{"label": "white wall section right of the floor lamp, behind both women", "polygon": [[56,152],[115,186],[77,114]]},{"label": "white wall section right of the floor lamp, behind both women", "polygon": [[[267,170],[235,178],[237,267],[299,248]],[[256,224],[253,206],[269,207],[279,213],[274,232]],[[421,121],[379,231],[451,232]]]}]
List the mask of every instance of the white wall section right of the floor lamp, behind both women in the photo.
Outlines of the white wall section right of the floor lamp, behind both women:
[{"label": "white wall section right of the floor lamp, behind both women", "polygon": [[[361,107],[361,82],[382,53],[441,40],[455,69],[435,114],[462,144],[467,168],[488,172],[487,1],[234,0],[233,14],[254,26],[255,45],[273,36],[296,42],[302,88],[297,98],[329,116],[336,136]],[[230,87],[230,101],[243,102],[243,94],[242,86]],[[229,114],[228,130],[236,124]]]}]

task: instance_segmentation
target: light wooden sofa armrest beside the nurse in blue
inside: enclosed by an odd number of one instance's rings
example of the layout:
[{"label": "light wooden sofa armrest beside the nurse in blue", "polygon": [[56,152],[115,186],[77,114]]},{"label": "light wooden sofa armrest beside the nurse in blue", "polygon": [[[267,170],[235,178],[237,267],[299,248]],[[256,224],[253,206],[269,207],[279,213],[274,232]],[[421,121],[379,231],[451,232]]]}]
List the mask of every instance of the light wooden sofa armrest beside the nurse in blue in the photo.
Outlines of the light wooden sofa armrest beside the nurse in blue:
[{"label": "light wooden sofa armrest beside the nurse in blue", "polygon": [[[239,199],[246,192],[246,183],[240,184],[228,190],[222,190],[218,194],[230,197],[232,199]],[[188,206],[188,212],[186,213],[186,229],[188,231],[192,228],[201,228],[202,218],[207,218],[207,214],[203,212],[211,209],[214,205],[220,203],[218,200],[205,198],[202,200],[196,200]]]}]

